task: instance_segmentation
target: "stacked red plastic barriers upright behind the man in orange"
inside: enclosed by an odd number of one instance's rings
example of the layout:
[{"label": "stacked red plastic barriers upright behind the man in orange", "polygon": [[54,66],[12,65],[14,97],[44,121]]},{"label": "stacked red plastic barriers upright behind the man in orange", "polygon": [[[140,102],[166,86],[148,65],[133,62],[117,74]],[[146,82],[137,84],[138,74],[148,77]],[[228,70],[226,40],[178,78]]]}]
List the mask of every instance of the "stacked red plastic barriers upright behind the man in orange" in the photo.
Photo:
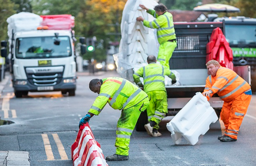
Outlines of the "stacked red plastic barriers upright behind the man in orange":
[{"label": "stacked red plastic barriers upright behind the man in orange", "polygon": [[233,70],[233,52],[219,27],[212,32],[209,43],[206,45],[206,63],[216,60],[221,66]]}]

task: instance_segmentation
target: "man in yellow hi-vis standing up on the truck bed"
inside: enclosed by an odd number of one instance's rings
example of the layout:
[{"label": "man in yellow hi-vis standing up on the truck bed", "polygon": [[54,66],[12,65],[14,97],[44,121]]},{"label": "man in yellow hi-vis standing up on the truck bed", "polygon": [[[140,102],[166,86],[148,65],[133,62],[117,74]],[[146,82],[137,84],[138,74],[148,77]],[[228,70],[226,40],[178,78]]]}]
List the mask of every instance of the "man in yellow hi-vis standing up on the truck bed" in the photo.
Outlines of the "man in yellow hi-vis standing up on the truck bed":
[{"label": "man in yellow hi-vis standing up on the truck bed", "polygon": [[154,21],[149,22],[139,16],[136,20],[142,21],[144,26],[157,30],[157,39],[160,44],[157,60],[161,65],[170,69],[169,60],[177,46],[172,14],[167,12],[167,7],[163,4],[155,6],[154,10],[148,9],[142,4],[139,6],[156,18]]}]

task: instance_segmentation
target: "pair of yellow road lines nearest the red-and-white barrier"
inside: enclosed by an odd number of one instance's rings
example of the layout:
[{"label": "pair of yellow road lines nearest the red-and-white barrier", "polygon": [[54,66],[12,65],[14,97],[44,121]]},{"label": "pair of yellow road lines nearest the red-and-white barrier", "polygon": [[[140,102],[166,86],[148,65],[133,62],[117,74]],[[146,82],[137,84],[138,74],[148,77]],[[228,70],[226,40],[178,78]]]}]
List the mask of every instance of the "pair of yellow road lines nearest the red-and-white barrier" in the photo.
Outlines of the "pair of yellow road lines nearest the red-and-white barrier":
[{"label": "pair of yellow road lines nearest the red-and-white barrier", "polygon": [[[47,156],[47,160],[55,160],[53,153],[52,153],[52,146],[50,144],[49,138],[47,134],[41,134],[42,138],[43,138],[43,144],[44,144],[44,148],[45,148],[45,153]],[[52,134],[53,139],[57,145],[58,151],[60,153],[60,158],[61,160],[68,160],[68,156],[65,152],[65,149],[60,141],[60,138],[58,136],[58,134],[54,133]]]}]

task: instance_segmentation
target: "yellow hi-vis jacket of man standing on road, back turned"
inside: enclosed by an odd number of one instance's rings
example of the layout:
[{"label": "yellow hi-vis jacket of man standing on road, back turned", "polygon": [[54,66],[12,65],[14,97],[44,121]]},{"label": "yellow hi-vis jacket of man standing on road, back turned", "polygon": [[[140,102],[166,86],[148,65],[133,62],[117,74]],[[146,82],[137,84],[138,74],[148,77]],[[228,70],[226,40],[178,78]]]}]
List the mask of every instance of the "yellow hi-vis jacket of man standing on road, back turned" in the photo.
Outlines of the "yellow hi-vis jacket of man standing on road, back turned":
[{"label": "yellow hi-vis jacket of man standing on road, back turned", "polygon": [[167,75],[171,79],[175,79],[175,74],[171,72],[170,69],[167,69],[166,67],[156,64],[155,62],[151,62],[147,66],[143,66],[139,68],[134,74],[134,82],[142,86],[142,83],[140,81],[140,77],[143,77],[144,82],[144,91],[150,92],[153,90],[164,90],[165,83],[164,83],[164,76]]}]

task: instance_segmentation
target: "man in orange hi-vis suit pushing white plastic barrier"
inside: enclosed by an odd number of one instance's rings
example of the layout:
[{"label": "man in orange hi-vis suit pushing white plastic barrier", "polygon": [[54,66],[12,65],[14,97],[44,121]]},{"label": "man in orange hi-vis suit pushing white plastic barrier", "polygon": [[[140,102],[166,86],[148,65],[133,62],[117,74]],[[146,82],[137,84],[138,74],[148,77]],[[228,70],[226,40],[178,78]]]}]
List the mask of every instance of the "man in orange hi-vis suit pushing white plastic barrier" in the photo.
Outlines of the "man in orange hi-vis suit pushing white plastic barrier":
[{"label": "man in orange hi-vis suit pushing white plastic barrier", "polygon": [[203,95],[209,100],[217,93],[224,101],[221,120],[225,125],[225,134],[218,136],[221,141],[236,141],[237,134],[251,101],[250,85],[233,70],[222,67],[218,61],[206,63],[209,77],[206,79]]}]

